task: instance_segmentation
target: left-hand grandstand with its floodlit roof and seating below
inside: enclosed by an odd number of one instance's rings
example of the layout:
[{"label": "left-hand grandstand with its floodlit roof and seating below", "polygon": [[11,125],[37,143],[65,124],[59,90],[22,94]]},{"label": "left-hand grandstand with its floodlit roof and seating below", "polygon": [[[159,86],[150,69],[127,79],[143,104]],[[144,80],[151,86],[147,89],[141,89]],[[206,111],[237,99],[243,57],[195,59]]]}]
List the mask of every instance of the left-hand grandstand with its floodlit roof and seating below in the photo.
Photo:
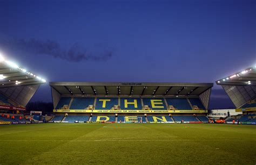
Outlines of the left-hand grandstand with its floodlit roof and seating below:
[{"label": "left-hand grandstand with its floodlit roof and seating below", "polygon": [[0,122],[28,121],[25,106],[44,83],[44,78],[0,55]]}]

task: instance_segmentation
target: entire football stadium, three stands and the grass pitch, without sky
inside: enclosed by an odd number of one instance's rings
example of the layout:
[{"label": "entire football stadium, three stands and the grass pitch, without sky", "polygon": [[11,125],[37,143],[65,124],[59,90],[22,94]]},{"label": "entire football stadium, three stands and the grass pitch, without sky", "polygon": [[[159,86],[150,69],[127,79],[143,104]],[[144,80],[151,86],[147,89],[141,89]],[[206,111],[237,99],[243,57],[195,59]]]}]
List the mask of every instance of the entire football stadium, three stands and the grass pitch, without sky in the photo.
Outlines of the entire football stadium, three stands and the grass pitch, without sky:
[{"label": "entire football stadium, three stands and the grass pitch, without sky", "polygon": [[213,83],[50,82],[54,115],[26,114],[46,80],[1,58],[0,164],[255,164],[256,67]]}]

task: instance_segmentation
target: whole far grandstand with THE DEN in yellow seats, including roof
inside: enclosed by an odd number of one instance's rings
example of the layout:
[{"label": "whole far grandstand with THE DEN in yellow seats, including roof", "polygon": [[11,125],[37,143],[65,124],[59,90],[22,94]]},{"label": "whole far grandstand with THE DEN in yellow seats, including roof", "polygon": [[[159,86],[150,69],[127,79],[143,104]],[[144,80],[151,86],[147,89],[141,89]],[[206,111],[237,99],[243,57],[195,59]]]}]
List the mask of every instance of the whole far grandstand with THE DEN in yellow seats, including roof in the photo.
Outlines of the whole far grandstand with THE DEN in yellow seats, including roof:
[{"label": "whole far grandstand with THE DEN in yellow seats, including roof", "polygon": [[52,121],[169,123],[201,121],[197,114],[206,121],[213,84],[50,82],[50,87],[57,115]]}]

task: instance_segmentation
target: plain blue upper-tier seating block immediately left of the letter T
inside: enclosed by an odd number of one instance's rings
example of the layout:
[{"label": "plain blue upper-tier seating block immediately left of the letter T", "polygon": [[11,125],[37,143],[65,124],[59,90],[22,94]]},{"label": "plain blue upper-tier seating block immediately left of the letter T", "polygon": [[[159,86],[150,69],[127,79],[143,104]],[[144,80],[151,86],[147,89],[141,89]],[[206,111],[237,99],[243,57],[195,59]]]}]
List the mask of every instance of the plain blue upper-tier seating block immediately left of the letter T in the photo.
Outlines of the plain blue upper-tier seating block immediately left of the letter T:
[{"label": "plain blue upper-tier seating block immediately left of the letter T", "polygon": [[93,105],[95,101],[94,97],[75,97],[70,106],[71,110],[84,110],[89,105]]}]

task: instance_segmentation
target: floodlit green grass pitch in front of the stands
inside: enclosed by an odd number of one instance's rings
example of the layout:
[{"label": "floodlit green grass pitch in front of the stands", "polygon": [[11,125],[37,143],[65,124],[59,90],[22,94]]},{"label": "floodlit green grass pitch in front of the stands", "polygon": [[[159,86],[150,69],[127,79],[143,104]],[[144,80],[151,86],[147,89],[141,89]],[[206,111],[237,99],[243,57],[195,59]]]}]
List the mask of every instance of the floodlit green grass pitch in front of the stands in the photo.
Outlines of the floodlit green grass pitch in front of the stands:
[{"label": "floodlit green grass pitch in front of the stands", "polygon": [[256,126],[0,126],[0,164],[255,164]]}]

